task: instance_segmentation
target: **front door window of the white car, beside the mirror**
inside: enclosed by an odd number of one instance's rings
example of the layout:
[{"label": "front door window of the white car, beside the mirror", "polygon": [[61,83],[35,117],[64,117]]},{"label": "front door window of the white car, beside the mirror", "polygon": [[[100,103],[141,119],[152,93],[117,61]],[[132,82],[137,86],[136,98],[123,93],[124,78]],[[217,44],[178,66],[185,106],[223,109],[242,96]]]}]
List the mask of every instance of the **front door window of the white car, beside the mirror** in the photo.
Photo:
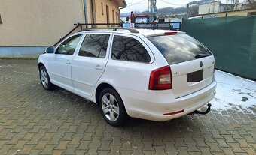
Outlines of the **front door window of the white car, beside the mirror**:
[{"label": "front door window of the white car, beside the mirror", "polygon": [[56,50],[56,54],[61,55],[73,55],[75,48],[78,46],[79,41],[81,40],[82,35],[74,35],[69,37],[63,43],[59,45],[59,48]]}]

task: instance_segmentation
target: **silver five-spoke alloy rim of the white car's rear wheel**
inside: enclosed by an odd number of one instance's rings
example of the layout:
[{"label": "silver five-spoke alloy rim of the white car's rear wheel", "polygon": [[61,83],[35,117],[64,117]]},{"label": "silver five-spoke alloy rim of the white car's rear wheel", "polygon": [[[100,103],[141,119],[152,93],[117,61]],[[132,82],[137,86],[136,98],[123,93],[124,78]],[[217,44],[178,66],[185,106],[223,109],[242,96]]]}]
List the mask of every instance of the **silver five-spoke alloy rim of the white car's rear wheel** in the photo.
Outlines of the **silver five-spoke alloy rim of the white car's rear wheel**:
[{"label": "silver five-spoke alloy rim of the white car's rear wheel", "polygon": [[116,121],[119,117],[119,105],[111,94],[104,94],[102,97],[102,110],[109,121]]}]

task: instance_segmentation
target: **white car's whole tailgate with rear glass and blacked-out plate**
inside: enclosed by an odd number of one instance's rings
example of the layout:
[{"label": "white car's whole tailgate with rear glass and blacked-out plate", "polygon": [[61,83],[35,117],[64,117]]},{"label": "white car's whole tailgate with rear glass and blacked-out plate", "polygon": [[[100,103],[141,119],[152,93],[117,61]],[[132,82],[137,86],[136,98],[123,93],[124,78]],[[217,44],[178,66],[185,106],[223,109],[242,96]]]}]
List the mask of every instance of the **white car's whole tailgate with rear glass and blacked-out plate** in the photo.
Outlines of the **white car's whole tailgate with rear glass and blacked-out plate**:
[{"label": "white car's whole tailgate with rear glass and blacked-out plate", "polygon": [[215,59],[209,49],[187,34],[148,37],[172,70],[176,98],[199,91],[212,83]]}]

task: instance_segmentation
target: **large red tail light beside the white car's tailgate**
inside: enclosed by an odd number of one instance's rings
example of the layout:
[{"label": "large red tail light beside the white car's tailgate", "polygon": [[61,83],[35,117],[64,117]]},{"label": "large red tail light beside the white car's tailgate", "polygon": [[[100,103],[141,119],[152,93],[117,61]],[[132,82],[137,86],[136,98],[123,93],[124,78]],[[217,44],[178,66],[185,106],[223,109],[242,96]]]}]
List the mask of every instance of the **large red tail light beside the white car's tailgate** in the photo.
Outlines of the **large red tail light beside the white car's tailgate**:
[{"label": "large red tail light beside the white car's tailgate", "polygon": [[172,89],[172,71],[169,66],[161,67],[151,72],[149,90]]}]

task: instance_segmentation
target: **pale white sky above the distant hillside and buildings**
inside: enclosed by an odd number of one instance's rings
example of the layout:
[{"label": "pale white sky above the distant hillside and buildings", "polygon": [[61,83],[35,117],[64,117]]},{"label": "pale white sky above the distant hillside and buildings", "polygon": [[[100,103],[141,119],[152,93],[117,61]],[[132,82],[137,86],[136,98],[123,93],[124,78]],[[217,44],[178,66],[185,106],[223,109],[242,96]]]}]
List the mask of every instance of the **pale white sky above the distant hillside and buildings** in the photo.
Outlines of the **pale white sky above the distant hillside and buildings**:
[{"label": "pale white sky above the distant hillside and buildings", "polygon": [[[163,7],[185,7],[187,3],[199,0],[157,0],[157,8]],[[126,0],[127,7],[120,10],[120,13],[131,11],[148,10],[148,0]]]}]

